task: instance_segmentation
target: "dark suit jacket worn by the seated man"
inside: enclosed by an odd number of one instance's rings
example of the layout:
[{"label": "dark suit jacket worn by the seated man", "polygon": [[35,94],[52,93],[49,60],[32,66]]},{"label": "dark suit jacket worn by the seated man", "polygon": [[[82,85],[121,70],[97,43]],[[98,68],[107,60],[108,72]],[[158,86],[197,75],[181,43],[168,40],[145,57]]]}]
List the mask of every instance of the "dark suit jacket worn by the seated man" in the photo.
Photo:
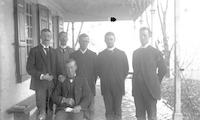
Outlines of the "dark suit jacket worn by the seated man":
[{"label": "dark suit jacket worn by the seated man", "polygon": [[[90,103],[91,91],[87,84],[87,80],[81,77],[75,77],[74,79],[74,94],[75,94],[75,106],[80,105],[81,108],[84,110],[88,107]],[[53,95],[52,100],[57,105],[56,111],[64,109],[67,107],[66,104],[62,104],[62,98],[68,98],[69,92],[69,82],[66,79],[63,83],[58,82]]]}]

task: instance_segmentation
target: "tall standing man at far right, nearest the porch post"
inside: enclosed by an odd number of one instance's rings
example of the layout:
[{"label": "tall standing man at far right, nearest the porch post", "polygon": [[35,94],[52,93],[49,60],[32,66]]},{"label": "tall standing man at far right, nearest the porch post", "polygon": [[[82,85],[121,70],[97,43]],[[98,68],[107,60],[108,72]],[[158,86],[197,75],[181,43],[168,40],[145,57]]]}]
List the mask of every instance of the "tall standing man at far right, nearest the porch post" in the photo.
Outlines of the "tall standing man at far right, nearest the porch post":
[{"label": "tall standing man at far right, nearest the porch post", "polygon": [[157,120],[156,104],[160,99],[160,84],[166,74],[166,66],[162,53],[149,44],[151,31],[149,28],[140,29],[141,48],[133,53],[132,93],[136,106],[138,120]]}]

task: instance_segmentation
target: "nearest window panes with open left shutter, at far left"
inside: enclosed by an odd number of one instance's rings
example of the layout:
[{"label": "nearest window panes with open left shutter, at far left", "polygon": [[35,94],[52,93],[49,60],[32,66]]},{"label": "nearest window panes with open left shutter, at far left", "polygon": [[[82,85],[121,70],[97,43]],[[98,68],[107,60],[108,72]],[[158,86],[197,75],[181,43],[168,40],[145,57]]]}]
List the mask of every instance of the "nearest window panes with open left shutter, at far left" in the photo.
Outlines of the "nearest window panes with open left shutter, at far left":
[{"label": "nearest window panes with open left shutter, at far left", "polygon": [[15,51],[17,82],[29,78],[26,72],[28,53],[33,47],[33,4],[24,0],[14,0]]}]

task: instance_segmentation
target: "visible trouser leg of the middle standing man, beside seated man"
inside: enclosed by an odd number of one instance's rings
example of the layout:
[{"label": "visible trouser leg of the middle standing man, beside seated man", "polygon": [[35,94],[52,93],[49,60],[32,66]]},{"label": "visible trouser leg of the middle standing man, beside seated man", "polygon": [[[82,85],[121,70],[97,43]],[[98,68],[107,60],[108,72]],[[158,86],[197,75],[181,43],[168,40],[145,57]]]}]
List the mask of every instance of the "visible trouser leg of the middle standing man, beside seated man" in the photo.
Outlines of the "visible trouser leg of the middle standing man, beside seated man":
[{"label": "visible trouser leg of the middle standing man, beside seated man", "polygon": [[95,105],[94,96],[92,96],[88,109],[84,111],[84,118],[86,118],[86,120],[94,120],[94,112],[95,112],[94,105]]}]

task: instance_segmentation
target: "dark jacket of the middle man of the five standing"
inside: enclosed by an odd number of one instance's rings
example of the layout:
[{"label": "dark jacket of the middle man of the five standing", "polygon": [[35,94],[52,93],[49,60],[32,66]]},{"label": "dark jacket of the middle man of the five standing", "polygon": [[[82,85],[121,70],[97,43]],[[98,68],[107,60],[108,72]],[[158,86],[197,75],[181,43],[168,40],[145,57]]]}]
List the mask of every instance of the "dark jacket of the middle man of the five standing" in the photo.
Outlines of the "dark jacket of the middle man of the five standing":
[{"label": "dark jacket of the middle man of the five standing", "polygon": [[84,54],[82,54],[80,50],[77,50],[71,54],[71,57],[76,60],[78,65],[78,74],[88,80],[88,85],[93,95],[95,95],[95,85],[97,80],[96,53],[88,49]]}]

